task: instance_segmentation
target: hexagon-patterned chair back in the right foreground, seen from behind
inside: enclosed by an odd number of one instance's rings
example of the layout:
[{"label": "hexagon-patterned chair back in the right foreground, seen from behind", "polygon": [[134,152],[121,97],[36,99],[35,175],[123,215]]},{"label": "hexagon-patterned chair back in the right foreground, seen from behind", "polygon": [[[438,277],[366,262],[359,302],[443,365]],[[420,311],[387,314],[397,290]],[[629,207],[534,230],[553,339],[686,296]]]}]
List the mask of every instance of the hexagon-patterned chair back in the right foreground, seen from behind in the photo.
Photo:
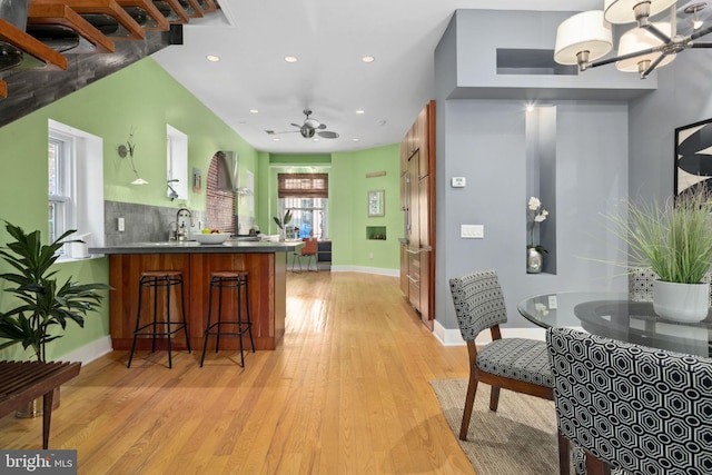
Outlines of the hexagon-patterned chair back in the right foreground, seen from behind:
[{"label": "hexagon-patterned chair back in the right foreground, seen from behind", "polygon": [[712,474],[711,358],[571,328],[547,329],[546,345],[560,454],[583,448],[589,475]]}]

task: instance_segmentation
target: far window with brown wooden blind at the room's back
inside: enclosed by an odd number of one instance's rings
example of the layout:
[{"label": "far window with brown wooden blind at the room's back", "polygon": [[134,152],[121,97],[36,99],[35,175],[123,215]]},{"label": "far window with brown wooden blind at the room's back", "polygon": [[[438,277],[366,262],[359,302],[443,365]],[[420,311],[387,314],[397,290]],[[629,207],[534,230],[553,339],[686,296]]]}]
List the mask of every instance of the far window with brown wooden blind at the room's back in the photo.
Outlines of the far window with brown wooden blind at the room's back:
[{"label": "far window with brown wooden blind at the room's back", "polygon": [[290,225],[297,237],[326,236],[326,209],[329,196],[328,174],[278,174],[279,208],[291,210]]}]

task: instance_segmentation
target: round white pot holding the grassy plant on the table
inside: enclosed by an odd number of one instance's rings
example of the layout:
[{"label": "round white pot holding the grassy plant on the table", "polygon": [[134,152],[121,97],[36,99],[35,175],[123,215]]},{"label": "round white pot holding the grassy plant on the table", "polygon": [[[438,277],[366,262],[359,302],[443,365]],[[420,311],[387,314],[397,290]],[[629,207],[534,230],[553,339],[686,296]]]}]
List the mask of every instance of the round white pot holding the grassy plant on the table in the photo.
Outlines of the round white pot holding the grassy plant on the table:
[{"label": "round white pot holding the grassy plant on the table", "polygon": [[653,309],[662,318],[696,323],[710,311],[710,284],[653,283]]}]

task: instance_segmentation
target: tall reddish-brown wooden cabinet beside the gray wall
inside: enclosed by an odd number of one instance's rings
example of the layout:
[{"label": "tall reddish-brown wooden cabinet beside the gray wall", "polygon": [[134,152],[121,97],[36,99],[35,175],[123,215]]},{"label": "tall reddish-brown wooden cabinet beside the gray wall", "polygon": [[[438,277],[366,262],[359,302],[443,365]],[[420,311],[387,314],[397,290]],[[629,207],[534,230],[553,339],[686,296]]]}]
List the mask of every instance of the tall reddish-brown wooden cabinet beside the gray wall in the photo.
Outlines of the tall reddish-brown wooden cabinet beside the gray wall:
[{"label": "tall reddish-brown wooden cabinet beside the gray wall", "polygon": [[418,113],[400,142],[400,289],[421,319],[435,318],[435,101]]}]

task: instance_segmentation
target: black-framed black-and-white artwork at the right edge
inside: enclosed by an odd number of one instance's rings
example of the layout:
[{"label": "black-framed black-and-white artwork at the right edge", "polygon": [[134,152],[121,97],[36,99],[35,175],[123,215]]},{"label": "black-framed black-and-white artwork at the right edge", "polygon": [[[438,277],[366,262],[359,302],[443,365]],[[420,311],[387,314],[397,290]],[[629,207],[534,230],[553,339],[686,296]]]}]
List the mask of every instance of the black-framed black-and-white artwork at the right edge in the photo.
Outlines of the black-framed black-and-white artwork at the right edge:
[{"label": "black-framed black-and-white artwork at the right edge", "polygon": [[712,119],[675,129],[675,196],[712,187]]}]

